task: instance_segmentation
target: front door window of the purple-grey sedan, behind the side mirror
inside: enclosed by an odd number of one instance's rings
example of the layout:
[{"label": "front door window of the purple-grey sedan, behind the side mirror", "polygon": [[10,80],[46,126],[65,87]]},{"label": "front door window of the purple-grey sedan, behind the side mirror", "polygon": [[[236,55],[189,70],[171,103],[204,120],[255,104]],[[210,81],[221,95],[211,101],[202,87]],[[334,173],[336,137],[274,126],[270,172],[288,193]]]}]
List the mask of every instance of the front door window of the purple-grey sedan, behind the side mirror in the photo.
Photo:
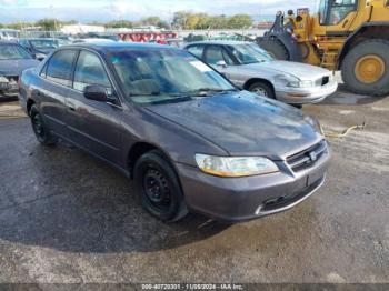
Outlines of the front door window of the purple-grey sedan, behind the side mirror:
[{"label": "front door window of the purple-grey sedan, behind the side mirror", "polygon": [[81,51],[76,66],[73,88],[83,91],[89,84],[111,88],[111,82],[99,57],[92,52]]}]

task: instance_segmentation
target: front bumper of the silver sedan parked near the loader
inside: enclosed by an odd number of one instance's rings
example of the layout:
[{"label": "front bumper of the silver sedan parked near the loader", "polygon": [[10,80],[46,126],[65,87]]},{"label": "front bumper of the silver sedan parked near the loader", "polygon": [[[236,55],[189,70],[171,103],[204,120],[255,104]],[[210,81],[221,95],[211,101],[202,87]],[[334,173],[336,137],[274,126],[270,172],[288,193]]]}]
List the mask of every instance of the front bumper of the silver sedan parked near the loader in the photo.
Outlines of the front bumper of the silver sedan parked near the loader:
[{"label": "front bumper of the silver sedan parked near the loader", "polygon": [[318,103],[335,93],[338,82],[332,80],[326,86],[312,88],[276,88],[276,98],[289,104]]}]

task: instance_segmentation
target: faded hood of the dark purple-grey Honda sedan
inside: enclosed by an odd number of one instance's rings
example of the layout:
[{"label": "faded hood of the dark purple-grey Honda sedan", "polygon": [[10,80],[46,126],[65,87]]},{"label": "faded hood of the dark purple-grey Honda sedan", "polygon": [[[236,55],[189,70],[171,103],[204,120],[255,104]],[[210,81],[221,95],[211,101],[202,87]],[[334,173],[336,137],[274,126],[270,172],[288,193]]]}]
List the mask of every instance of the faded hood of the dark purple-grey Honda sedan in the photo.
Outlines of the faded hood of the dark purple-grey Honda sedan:
[{"label": "faded hood of the dark purple-grey Honda sedan", "polygon": [[247,91],[147,109],[202,136],[231,155],[283,160],[322,139],[302,111]]}]

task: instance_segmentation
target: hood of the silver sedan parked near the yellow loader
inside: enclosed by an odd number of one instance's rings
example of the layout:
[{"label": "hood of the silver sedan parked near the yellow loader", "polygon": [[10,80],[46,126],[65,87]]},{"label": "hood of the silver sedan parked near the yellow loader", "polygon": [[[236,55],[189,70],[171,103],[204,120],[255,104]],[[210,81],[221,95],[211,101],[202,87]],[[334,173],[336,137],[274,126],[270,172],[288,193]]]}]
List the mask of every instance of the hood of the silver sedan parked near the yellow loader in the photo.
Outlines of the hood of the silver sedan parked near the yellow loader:
[{"label": "hood of the silver sedan parked near the yellow loader", "polygon": [[291,61],[270,61],[260,63],[245,64],[249,70],[267,70],[275,73],[288,73],[292,74],[300,80],[317,80],[323,76],[329,76],[331,72],[327,69],[319,68],[311,64],[291,62]]}]

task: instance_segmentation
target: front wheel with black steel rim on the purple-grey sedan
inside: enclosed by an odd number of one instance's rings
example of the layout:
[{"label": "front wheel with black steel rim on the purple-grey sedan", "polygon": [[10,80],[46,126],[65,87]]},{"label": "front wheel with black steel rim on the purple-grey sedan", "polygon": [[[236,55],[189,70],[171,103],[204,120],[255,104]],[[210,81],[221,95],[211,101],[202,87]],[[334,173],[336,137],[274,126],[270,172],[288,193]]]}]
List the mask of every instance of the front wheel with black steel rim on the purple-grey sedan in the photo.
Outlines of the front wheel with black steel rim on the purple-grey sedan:
[{"label": "front wheel with black steel rim on the purple-grey sedan", "polygon": [[134,165],[134,185],[142,207],[153,217],[174,222],[188,214],[174,169],[158,150],[141,155]]}]

